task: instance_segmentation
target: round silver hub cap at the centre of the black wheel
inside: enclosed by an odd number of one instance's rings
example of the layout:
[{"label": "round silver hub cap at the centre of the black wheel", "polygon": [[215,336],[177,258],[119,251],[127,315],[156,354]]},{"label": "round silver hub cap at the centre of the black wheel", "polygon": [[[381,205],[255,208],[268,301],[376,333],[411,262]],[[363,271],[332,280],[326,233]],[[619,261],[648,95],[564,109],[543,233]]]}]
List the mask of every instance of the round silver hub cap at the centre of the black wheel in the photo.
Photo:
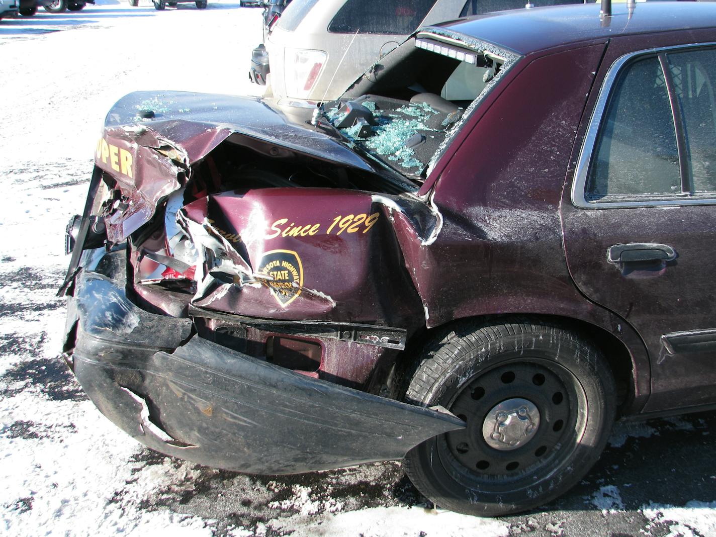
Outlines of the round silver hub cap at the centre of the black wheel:
[{"label": "round silver hub cap at the centre of the black wheel", "polygon": [[515,397],[493,407],[483,422],[483,437],[490,448],[516,450],[529,442],[539,427],[539,410],[526,399]]}]

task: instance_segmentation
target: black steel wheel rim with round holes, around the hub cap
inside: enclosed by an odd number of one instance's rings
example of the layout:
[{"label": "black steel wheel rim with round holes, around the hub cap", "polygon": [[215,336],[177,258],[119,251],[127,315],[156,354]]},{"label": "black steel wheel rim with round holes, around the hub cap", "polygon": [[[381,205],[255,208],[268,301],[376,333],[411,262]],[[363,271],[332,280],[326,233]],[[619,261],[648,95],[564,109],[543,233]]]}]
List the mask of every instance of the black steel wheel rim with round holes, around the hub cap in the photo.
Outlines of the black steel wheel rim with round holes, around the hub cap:
[{"label": "black steel wheel rim with round holes, around the hub cap", "polygon": [[[488,412],[513,399],[531,402],[540,423],[514,449],[488,445]],[[548,478],[574,453],[586,425],[586,395],[576,376],[551,359],[508,359],[473,375],[448,402],[468,423],[437,439],[443,468],[459,483],[484,492],[516,490]]]}]

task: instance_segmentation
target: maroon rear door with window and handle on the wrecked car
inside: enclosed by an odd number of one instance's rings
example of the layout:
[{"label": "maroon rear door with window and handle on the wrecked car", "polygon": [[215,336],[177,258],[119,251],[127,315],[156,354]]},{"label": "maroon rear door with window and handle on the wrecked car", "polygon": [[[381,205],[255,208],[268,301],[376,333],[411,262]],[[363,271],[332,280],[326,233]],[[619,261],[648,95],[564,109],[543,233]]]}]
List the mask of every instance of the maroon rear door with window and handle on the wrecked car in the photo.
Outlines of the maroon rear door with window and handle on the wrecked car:
[{"label": "maroon rear door with window and handle on the wrecked car", "polygon": [[639,39],[609,45],[562,213],[576,285],[644,340],[656,411],[716,402],[716,47]]}]

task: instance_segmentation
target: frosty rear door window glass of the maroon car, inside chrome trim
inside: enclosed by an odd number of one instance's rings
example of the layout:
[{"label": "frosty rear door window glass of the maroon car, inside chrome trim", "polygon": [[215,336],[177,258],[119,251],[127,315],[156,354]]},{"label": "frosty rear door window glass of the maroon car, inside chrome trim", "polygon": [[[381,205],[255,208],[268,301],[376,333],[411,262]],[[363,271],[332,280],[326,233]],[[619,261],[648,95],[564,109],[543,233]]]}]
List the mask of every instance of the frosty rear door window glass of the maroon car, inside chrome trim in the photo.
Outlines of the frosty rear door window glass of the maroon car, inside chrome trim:
[{"label": "frosty rear door window glass of the maroon car, inside chrome trim", "polygon": [[588,201],[716,193],[716,49],[663,52],[621,70],[601,119]]}]

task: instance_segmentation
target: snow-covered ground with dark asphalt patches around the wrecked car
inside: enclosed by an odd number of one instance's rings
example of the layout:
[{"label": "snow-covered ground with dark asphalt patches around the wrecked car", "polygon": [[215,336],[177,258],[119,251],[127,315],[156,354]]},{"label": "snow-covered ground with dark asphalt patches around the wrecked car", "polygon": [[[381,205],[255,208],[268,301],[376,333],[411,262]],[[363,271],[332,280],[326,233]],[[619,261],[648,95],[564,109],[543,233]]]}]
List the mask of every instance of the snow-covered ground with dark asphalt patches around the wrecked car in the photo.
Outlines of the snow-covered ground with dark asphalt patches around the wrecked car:
[{"label": "snow-covered ground with dark asphalt patches around the wrecked car", "polygon": [[98,0],[0,21],[0,535],[713,536],[716,416],[619,424],[596,468],[541,511],[437,511],[400,463],[258,477],[142,448],[59,358],[64,226],[102,118],[135,89],[256,93],[260,10]]}]

